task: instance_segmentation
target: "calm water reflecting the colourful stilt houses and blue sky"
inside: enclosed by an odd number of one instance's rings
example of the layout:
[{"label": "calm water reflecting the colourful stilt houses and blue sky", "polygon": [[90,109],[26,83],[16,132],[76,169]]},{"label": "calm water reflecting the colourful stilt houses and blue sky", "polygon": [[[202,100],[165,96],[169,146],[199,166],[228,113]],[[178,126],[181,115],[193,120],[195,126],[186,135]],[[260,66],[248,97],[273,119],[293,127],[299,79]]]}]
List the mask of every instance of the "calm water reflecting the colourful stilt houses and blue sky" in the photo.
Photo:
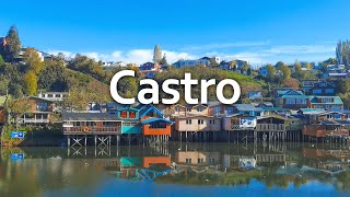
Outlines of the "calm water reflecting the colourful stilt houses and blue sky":
[{"label": "calm water reflecting the colourful stilt houses and blue sky", "polygon": [[349,196],[349,147],[2,149],[0,196]]}]

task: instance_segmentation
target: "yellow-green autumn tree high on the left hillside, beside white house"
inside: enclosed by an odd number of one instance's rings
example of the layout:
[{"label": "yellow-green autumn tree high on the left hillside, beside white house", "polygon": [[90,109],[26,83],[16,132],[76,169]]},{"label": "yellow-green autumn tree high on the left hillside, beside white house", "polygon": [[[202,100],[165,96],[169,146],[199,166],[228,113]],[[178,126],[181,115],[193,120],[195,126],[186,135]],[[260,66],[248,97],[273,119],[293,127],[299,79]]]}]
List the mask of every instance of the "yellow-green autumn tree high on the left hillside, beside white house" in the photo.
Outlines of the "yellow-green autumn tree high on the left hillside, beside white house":
[{"label": "yellow-green autumn tree high on the left hillside, beside white house", "polygon": [[30,70],[35,72],[35,74],[38,74],[44,67],[38,51],[36,51],[34,48],[25,49],[24,62],[28,66]]}]

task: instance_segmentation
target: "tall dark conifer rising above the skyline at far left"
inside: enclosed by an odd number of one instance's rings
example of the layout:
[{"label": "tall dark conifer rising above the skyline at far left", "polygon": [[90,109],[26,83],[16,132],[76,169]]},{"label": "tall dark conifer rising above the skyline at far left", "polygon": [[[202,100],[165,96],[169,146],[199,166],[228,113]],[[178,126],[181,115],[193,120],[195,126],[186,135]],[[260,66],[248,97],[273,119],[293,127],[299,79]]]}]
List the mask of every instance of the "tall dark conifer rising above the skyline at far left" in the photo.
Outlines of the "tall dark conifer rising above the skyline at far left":
[{"label": "tall dark conifer rising above the skyline at far left", "polygon": [[4,47],[4,54],[7,61],[14,61],[19,57],[22,49],[19,32],[15,26],[11,26],[7,35],[7,45]]}]

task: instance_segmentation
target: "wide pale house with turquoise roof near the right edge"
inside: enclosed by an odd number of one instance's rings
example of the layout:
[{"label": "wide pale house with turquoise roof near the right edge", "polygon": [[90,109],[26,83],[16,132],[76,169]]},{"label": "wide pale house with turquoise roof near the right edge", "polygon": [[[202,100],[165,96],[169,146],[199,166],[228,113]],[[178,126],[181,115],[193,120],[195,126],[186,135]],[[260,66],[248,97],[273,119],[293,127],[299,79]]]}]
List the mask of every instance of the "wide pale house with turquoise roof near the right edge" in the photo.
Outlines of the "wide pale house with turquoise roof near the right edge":
[{"label": "wide pale house with turquoise roof near the right edge", "polygon": [[343,109],[343,103],[339,96],[310,96],[308,108],[324,108],[327,111]]}]

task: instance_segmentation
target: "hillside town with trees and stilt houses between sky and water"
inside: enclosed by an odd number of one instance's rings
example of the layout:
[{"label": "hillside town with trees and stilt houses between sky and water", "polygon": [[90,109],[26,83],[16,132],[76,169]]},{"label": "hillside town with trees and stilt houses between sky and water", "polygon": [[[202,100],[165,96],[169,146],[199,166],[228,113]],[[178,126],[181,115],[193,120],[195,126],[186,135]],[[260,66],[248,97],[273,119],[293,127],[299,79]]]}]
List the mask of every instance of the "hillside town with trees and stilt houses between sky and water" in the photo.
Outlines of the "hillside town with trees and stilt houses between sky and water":
[{"label": "hillside town with trees and stilt houses between sky and water", "polygon": [[[346,48],[339,45],[349,42],[338,44],[336,58],[322,62],[279,61],[260,67],[220,57],[179,59],[170,65],[160,45],[154,47],[153,61],[141,65],[97,62],[82,55],[68,58],[23,48],[15,27],[0,42],[2,146],[21,146],[25,141],[12,139],[12,131],[25,131],[25,139],[31,136],[33,140],[33,135],[40,136],[34,130],[42,130],[40,134],[44,130],[49,138],[51,129],[59,129],[57,141],[68,147],[170,140],[229,143],[350,140],[349,51],[338,51]],[[158,82],[184,71],[220,72],[237,80],[243,92],[232,105],[212,97],[198,105],[184,102],[121,105],[113,102],[107,91],[98,91],[106,90],[112,73],[122,69],[136,70],[139,79]],[[140,86],[127,79],[119,89],[125,96],[132,96]],[[225,93],[230,95],[230,91]]]}]

